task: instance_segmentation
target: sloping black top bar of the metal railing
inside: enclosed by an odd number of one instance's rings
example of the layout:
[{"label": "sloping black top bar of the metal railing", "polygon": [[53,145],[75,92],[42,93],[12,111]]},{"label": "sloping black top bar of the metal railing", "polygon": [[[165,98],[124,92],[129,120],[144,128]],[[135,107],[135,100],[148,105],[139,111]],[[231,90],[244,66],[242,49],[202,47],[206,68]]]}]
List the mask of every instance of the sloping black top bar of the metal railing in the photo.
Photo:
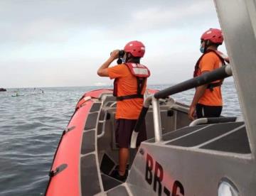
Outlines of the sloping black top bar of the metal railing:
[{"label": "sloping black top bar of the metal railing", "polygon": [[[216,80],[222,80],[225,77],[230,77],[228,73],[225,71],[225,67],[227,65],[220,67],[216,70],[213,70],[211,72],[206,72],[203,75],[200,75],[198,77],[194,77],[190,80],[186,80],[184,82],[179,83],[178,85],[174,85],[173,87],[169,87],[166,89],[163,89],[159,92],[156,92],[154,94],[154,97],[156,99],[160,98],[166,98],[171,94],[176,94],[178,92],[186,91],[187,89],[192,89],[194,87],[199,87],[201,85],[206,85],[210,82],[214,82]],[[229,65],[230,66],[230,65]]]}]

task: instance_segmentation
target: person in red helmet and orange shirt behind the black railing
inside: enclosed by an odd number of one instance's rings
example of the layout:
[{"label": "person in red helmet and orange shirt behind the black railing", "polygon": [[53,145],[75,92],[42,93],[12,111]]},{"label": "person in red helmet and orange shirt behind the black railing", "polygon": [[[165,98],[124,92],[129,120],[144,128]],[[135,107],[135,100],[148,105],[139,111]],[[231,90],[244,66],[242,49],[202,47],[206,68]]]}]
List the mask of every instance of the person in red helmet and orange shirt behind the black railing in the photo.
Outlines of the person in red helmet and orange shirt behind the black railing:
[{"label": "person in red helmet and orange shirt behind the black railing", "polygon": [[[228,57],[218,51],[223,43],[223,33],[218,28],[210,28],[201,36],[200,51],[203,53],[196,62],[193,77],[213,71],[229,62]],[[196,88],[188,118],[193,120],[202,117],[219,117],[223,107],[220,86],[223,80],[218,80]],[[196,115],[195,115],[196,113]]]}]

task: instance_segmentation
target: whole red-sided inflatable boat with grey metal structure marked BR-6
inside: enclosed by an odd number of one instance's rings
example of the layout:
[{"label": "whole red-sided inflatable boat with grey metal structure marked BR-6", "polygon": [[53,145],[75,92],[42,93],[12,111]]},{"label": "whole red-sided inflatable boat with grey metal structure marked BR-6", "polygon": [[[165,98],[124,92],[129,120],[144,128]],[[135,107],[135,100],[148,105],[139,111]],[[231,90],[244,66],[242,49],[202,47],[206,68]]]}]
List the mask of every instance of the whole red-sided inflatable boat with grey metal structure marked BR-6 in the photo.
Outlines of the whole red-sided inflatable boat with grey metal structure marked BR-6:
[{"label": "whole red-sided inflatable boat with grey metal structure marked BR-6", "polygon": [[[255,195],[256,5],[254,0],[215,0],[230,65],[178,85],[151,91],[132,133],[146,119],[148,140],[131,151],[126,182],[118,168],[112,90],[87,92],[63,131],[50,169],[46,195]],[[171,99],[233,75],[243,119],[188,121],[188,106]]]}]

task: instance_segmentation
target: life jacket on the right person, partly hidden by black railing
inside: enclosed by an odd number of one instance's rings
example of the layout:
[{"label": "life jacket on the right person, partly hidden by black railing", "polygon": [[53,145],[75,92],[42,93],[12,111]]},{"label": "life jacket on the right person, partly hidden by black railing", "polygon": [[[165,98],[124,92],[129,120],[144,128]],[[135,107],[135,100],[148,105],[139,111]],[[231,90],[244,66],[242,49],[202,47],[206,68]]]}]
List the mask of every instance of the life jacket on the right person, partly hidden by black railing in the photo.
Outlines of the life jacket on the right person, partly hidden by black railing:
[{"label": "life jacket on the right person, partly hidden by black railing", "polygon": [[[220,59],[222,66],[225,65],[225,62],[230,62],[228,56],[224,55],[223,53],[221,53],[218,50],[207,50],[206,53],[203,53],[203,55],[201,55],[201,57],[198,59],[198,61],[196,62],[196,66],[195,66],[195,70],[193,72],[193,77],[197,77],[201,74],[199,74],[199,64],[203,58],[204,55],[206,55],[207,53],[213,52],[215,53],[215,55],[218,56],[218,58]],[[210,91],[213,91],[214,87],[219,87],[220,85],[223,84],[223,80],[221,80],[220,82],[213,82],[207,85],[207,88],[210,89]]]}]

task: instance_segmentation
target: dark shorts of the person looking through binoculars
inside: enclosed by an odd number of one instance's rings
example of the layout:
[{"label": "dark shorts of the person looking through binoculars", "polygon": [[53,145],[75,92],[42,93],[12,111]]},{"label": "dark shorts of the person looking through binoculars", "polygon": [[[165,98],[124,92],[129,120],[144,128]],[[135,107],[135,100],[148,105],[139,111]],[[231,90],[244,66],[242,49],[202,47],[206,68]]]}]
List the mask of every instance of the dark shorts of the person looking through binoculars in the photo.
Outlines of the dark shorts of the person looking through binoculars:
[{"label": "dark shorts of the person looking through binoculars", "polygon": [[[116,119],[115,124],[115,136],[116,143],[119,148],[129,148],[130,141],[132,137],[132,131],[134,130],[134,126],[137,120],[131,119]],[[139,130],[138,138],[137,138],[137,147],[140,145],[142,141],[146,140],[146,124],[143,121],[142,126]]]}]

